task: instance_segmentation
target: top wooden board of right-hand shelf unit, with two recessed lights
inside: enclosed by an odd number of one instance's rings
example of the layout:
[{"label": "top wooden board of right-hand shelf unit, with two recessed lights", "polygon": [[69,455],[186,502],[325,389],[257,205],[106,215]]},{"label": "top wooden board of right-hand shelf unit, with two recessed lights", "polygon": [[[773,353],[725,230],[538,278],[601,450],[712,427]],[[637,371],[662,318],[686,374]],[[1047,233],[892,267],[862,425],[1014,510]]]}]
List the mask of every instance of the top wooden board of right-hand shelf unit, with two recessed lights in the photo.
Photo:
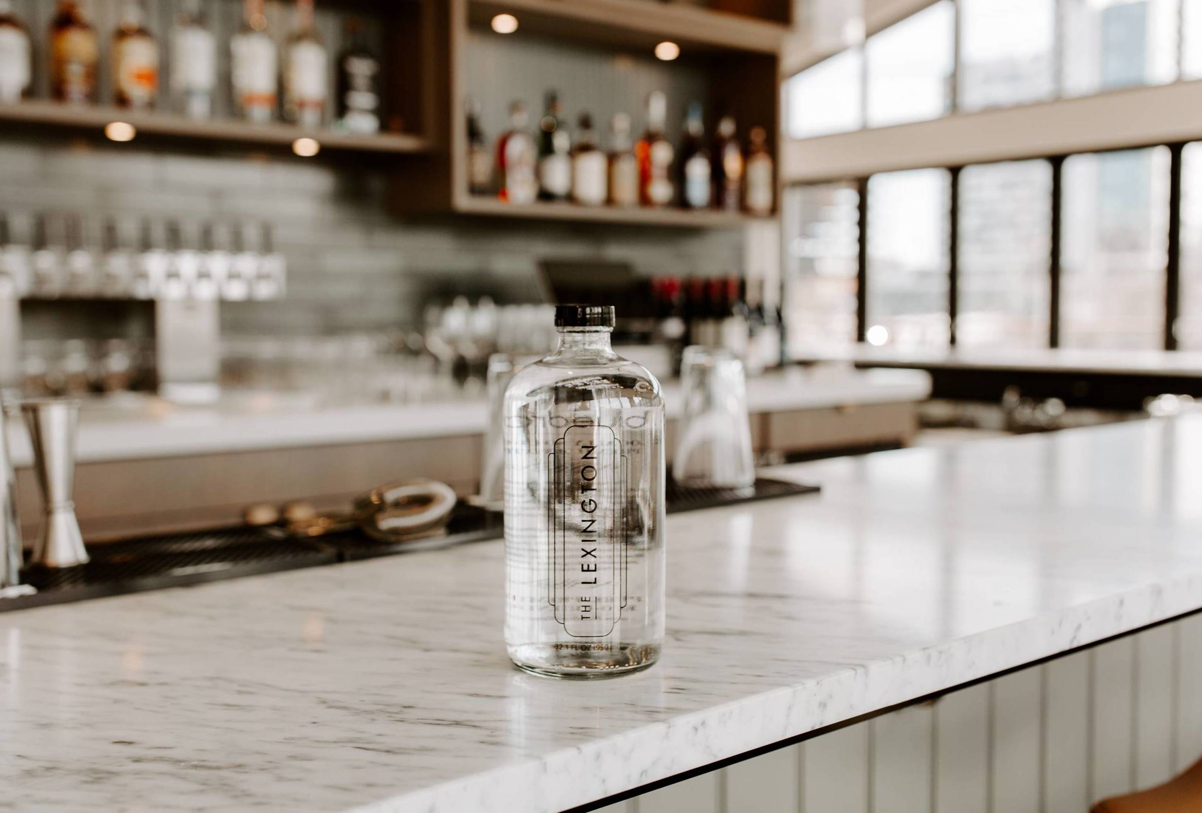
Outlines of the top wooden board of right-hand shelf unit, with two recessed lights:
[{"label": "top wooden board of right-hand shelf unit, with two recessed lights", "polygon": [[469,0],[469,20],[487,25],[493,14],[518,18],[516,36],[535,32],[573,41],[649,47],[672,40],[688,51],[778,54],[789,26],[746,14],[649,0]]}]

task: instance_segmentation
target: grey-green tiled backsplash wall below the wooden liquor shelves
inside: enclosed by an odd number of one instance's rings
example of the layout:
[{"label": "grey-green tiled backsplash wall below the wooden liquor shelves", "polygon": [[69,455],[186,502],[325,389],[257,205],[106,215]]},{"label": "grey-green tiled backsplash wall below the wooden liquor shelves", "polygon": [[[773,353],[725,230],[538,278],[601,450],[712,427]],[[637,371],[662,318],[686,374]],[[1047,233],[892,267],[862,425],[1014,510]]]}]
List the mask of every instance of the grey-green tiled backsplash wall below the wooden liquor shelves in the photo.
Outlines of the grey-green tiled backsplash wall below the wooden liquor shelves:
[{"label": "grey-green tiled backsplash wall below the wooden liquor shelves", "polygon": [[[404,184],[397,164],[394,183]],[[387,212],[382,165],[291,156],[210,155],[135,144],[6,135],[0,138],[0,209],[14,239],[28,239],[41,210],[123,222],[126,239],[144,216],[178,219],[185,236],[202,221],[273,225],[288,261],[287,297],[222,307],[228,334],[322,334],[416,325],[430,296],[490,293],[540,298],[542,259],[626,261],[648,274],[737,273],[743,233],[614,225],[511,222],[470,218],[399,220]],[[257,226],[255,229],[257,233]],[[195,239],[195,237],[192,238]],[[64,326],[70,336],[70,326]]]}]

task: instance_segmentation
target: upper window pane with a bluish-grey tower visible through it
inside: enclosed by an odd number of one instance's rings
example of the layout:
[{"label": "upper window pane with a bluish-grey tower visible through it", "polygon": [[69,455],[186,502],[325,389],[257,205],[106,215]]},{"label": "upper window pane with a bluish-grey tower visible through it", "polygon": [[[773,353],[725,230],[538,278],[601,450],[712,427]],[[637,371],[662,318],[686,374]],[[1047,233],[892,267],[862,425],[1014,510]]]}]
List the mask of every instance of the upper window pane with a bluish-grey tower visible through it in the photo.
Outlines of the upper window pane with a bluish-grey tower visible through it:
[{"label": "upper window pane with a bluish-grey tower visible through it", "polygon": [[1065,96],[1177,78],[1179,0],[1061,0]]}]

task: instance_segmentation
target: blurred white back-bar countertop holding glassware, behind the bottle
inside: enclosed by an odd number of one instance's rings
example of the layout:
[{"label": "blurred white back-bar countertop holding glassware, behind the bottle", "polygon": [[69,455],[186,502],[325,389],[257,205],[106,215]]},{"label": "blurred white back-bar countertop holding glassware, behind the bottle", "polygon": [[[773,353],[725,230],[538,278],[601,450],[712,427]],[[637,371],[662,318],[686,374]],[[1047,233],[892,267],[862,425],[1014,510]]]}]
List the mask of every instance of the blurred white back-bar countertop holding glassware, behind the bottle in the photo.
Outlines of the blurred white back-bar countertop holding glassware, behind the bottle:
[{"label": "blurred white back-bar countertop holding glassware, behind the bottle", "polygon": [[[665,394],[671,414],[677,400],[671,386]],[[752,413],[917,402],[929,394],[930,376],[918,370],[790,368],[748,382]],[[321,409],[274,393],[204,408],[147,398],[129,406],[85,409],[78,459],[91,463],[482,434],[486,419],[480,400]],[[30,465],[32,452],[24,428],[13,426],[10,434],[16,464]]]}]

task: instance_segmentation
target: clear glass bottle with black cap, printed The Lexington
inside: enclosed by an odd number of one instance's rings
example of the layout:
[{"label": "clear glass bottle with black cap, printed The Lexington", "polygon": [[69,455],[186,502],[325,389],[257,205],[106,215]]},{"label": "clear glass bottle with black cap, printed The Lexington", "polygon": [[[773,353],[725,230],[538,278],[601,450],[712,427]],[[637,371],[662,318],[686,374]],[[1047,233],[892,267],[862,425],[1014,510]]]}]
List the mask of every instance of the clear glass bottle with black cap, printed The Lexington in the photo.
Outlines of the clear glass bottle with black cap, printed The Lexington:
[{"label": "clear glass bottle with black cap, printed The Lexington", "polygon": [[664,642],[664,400],[613,324],[559,305],[559,348],[505,393],[505,642],[537,675],[645,669]]}]

